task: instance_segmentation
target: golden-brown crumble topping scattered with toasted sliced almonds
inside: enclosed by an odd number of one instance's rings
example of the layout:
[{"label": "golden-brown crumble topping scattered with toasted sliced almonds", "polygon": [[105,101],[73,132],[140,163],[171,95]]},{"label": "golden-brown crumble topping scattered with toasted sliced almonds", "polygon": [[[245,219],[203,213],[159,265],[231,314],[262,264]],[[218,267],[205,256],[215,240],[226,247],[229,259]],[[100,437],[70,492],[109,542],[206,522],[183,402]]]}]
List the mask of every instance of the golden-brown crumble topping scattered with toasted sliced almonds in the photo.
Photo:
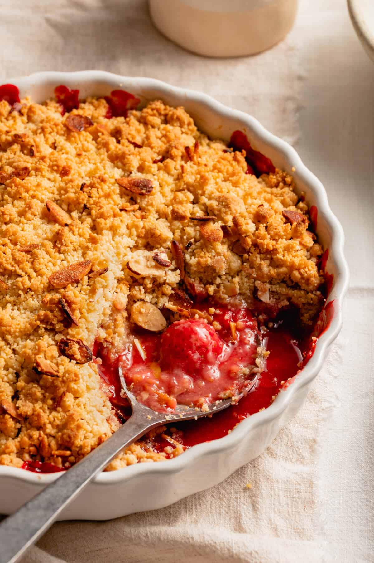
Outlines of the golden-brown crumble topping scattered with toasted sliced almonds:
[{"label": "golden-brown crumble topping scattered with toasted sliced almonds", "polygon": [[[293,306],[304,324],[321,308],[322,247],[292,177],[248,173],[183,108],[111,117],[116,103],[0,102],[0,464],[68,467],[118,428],[93,347],[115,356],[132,323],[162,330],[190,297]],[[109,469],[181,453],[164,432]]]}]

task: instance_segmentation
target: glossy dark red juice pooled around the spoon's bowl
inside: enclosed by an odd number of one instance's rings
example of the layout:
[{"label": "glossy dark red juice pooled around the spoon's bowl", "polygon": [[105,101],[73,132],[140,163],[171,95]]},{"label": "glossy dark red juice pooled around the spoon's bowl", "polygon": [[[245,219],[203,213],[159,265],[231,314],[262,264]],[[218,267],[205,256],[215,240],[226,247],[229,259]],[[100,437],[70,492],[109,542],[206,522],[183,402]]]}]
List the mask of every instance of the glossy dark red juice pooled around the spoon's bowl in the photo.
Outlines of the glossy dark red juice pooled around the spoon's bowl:
[{"label": "glossy dark red juice pooled around the spoon's bowl", "polygon": [[[219,308],[223,310],[223,307]],[[295,314],[288,312],[285,319],[270,325],[270,328],[262,329],[263,346],[270,354],[254,390],[243,397],[237,405],[230,406],[211,418],[174,423],[171,425],[172,430],[168,428],[166,431],[166,436],[169,435],[186,447],[215,440],[226,436],[244,418],[267,408],[272,403],[287,379],[294,377],[301,369],[305,363],[304,356],[306,360],[310,359],[315,345],[314,341],[310,341],[312,330],[307,334],[300,329],[296,312]],[[155,350],[160,350],[160,335],[144,332],[137,336],[142,342],[147,357],[152,357]],[[138,360],[140,356],[138,352],[136,354]],[[104,358],[103,363],[99,365],[99,371],[112,404],[121,413],[123,419],[126,419],[130,410],[127,401],[120,397],[118,359],[109,363]],[[163,451],[170,443],[158,436],[152,445],[156,450]]]}]

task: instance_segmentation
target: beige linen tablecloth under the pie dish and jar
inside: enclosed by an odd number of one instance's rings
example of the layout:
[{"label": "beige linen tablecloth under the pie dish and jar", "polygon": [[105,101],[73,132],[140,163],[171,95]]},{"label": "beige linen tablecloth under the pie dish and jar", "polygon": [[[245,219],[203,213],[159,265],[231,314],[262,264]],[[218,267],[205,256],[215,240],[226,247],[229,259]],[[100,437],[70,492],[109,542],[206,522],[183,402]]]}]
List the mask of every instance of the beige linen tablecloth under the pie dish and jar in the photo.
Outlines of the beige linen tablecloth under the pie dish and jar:
[{"label": "beige linen tablecloth under the pie dish and jar", "polygon": [[0,29],[1,82],[102,69],[195,88],[255,115],[325,183],[352,269],[343,331],[303,409],[263,455],[163,510],[59,522],[24,561],[372,561],[374,67],[344,0],[302,0],[285,42],[231,60],[174,46],[144,1],[1,0]]}]

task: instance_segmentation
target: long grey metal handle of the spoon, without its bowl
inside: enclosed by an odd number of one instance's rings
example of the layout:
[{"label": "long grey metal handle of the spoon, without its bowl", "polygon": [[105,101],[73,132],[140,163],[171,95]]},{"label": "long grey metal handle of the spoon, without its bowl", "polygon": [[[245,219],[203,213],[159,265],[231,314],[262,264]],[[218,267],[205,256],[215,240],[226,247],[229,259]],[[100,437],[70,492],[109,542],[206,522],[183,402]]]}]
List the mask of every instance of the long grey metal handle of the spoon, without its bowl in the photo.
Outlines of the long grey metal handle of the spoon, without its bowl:
[{"label": "long grey metal handle of the spoon, without its bowl", "polygon": [[62,473],[56,481],[24,504],[0,524],[0,563],[16,563],[42,536],[72,501],[110,461],[151,428],[164,422],[164,418],[151,423],[141,409],[110,438],[94,449],[79,463]]}]

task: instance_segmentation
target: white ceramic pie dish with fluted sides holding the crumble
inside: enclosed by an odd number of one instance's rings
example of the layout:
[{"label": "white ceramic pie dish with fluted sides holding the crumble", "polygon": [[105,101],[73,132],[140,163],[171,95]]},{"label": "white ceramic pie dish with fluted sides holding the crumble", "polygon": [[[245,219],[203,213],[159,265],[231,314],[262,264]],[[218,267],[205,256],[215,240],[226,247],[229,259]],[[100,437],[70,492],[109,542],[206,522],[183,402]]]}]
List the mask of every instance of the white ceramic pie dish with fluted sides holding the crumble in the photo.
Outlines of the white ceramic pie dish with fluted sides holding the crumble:
[{"label": "white ceramic pie dish with fluted sides holding the crumble", "polygon": [[[250,115],[232,110],[203,93],[150,78],[126,78],[98,71],[45,72],[7,82],[20,88],[21,97],[30,96],[38,102],[53,97],[54,88],[66,84],[70,88],[79,88],[80,97],[108,95],[115,88],[123,88],[143,103],[160,98],[170,105],[184,105],[197,126],[210,137],[228,140],[233,131],[242,129],[255,149],[271,158],[276,167],[292,172],[297,190],[304,191],[307,202],[318,208],[317,233],[324,247],[330,249],[326,270],[334,274],[328,297],[328,301],[334,300],[334,317],[318,339],[314,355],[292,385],[282,390],[271,406],[245,419],[231,434],[219,440],[193,446],[179,457],[164,462],[138,463],[101,473],[62,512],[60,519],[106,520],[162,508],[218,484],[261,454],[296,414],[307,396],[310,383],[321,369],[328,348],[340,332],[349,274],[343,254],[343,229],[328,205],[325,188],[289,144],[269,133]],[[40,475],[0,466],[0,513],[17,510],[49,482],[58,479],[58,475]]]}]

